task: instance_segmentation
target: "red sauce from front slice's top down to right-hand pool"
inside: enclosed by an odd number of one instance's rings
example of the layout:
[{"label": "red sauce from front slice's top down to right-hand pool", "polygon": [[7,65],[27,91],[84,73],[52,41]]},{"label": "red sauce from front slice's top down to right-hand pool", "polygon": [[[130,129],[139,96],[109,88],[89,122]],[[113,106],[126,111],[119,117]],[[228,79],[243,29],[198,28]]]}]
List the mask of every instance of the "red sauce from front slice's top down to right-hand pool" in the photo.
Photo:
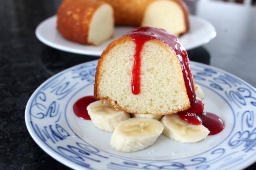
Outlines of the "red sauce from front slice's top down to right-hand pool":
[{"label": "red sauce from front slice's top down to right-hand pool", "polygon": [[[190,108],[188,110],[179,112],[178,115],[180,118],[193,125],[203,124],[206,128],[209,129],[209,135],[214,135],[221,132],[224,128],[223,120],[215,114],[203,113],[204,103],[202,101],[196,100],[196,92],[192,72],[190,69],[190,62],[187,57],[187,52],[185,51],[183,45],[180,43],[179,39],[176,36],[166,32],[165,30],[151,27],[139,27],[132,30],[131,32],[126,33],[126,35],[131,36],[136,44],[133,78],[131,83],[133,94],[137,95],[140,93],[140,53],[142,47],[146,41],[151,39],[158,39],[172,48],[172,50],[176,53],[181,65],[185,87],[190,101]],[[186,116],[187,113],[195,113],[196,115]]]}]

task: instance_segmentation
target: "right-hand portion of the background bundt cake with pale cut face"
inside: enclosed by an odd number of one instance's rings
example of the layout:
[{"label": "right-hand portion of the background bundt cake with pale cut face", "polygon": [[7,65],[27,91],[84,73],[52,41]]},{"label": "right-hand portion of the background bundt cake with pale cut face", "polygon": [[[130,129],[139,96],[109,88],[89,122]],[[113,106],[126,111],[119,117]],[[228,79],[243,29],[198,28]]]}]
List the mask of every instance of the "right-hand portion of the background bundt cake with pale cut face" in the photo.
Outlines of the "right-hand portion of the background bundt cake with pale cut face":
[{"label": "right-hand portion of the background bundt cake with pale cut face", "polygon": [[182,0],[102,0],[115,11],[115,24],[165,29],[177,36],[188,31],[188,9]]}]

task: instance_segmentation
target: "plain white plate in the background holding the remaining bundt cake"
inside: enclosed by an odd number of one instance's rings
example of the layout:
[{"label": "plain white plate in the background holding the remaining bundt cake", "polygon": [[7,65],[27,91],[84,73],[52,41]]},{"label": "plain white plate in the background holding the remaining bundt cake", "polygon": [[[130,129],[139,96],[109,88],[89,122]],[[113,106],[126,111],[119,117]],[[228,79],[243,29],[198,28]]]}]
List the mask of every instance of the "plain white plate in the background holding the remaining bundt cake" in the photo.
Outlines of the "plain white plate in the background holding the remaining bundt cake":
[{"label": "plain white plate in the background holding the remaining bundt cake", "polygon": [[[133,27],[116,27],[114,38],[105,41],[99,46],[82,45],[63,38],[56,29],[56,19],[56,16],[52,16],[42,21],[36,28],[36,37],[42,43],[58,50],[84,55],[100,56],[110,42],[133,29]],[[186,50],[208,43],[216,36],[214,26],[208,21],[196,16],[189,16],[189,22],[189,32],[180,37],[180,41]]]}]

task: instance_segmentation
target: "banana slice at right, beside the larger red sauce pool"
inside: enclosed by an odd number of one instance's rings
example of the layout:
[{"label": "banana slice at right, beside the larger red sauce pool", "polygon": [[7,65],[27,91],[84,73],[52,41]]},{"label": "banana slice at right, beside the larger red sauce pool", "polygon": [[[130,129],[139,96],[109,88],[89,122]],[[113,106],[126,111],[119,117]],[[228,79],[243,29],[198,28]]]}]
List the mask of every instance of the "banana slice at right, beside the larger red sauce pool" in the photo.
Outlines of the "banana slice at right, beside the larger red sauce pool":
[{"label": "banana slice at right, beside the larger red sauce pool", "polygon": [[160,122],[164,126],[165,136],[184,143],[198,142],[210,133],[203,125],[191,125],[177,114],[165,115]]}]

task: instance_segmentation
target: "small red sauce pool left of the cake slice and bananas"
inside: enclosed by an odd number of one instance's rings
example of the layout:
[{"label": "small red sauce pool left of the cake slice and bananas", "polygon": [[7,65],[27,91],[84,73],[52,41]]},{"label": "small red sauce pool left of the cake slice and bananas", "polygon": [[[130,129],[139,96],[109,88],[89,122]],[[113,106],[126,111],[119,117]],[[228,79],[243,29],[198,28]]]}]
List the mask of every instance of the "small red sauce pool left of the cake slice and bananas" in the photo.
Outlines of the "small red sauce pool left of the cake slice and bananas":
[{"label": "small red sauce pool left of the cake slice and bananas", "polygon": [[95,99],[92,95],[85,96],[76,101],[76,103],[73,105],[75,115],[82,119],[91,120],[86,108],[95,101],[97,101],[97,99]]}]

